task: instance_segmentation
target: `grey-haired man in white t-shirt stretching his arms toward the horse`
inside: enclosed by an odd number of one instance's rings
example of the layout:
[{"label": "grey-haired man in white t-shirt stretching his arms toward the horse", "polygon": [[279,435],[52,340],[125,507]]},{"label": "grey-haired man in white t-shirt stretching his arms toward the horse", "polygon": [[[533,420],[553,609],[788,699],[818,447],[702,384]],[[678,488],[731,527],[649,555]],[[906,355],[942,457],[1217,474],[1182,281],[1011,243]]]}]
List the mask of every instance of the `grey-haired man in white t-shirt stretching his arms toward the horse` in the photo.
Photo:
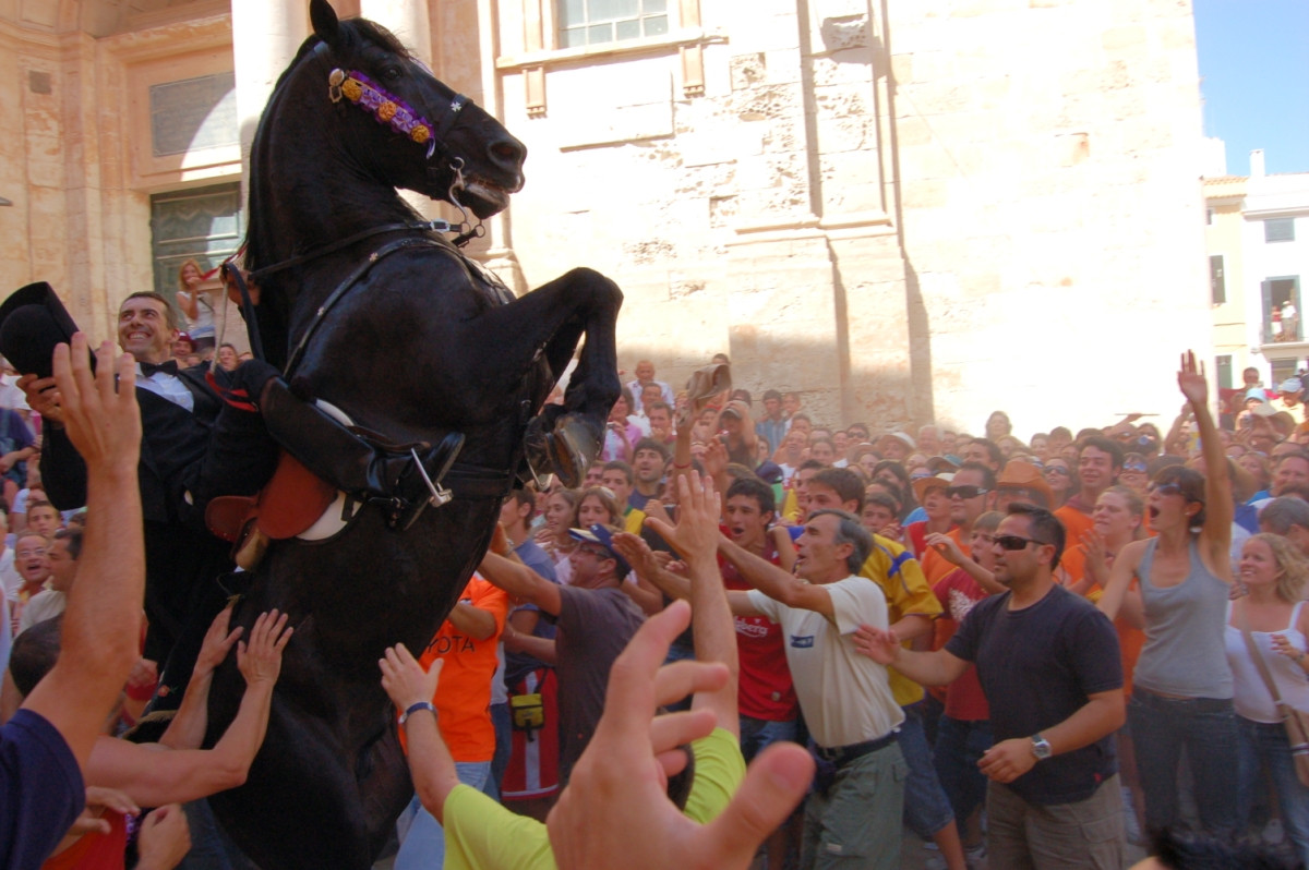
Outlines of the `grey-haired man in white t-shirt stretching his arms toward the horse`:
[{"label": "grey-haired man in white t-shirt stretching his arms toward the horse", "polygon": [[859,577],[872,547],[872,535],[844,510],[808,517],[796,540],[796,576],[719,538],[719,552],[754,586],[728,593],[732,612],[781,625],[816,743],[819,773],[805,803],[805,867],[899,867],[908,765],[895,734],[905,713],[886,667],[859,655],[853,644],[860,621],[888,625],[886,597]]}]

